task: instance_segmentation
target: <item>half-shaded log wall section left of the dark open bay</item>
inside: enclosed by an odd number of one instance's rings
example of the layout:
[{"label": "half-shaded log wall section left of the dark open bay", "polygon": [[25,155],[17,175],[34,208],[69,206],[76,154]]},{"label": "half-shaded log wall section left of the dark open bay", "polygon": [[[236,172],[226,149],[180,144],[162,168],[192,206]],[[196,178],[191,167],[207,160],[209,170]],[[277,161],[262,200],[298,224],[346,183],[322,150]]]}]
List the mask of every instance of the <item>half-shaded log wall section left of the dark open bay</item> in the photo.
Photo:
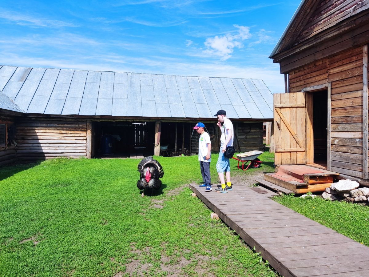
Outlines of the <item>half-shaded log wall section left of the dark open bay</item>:
[{"label": "half-shaded log wall section left of the dark open bay", "polygon": [[28,119],[16,126],[20,160],[86,156],[86,122]]}]

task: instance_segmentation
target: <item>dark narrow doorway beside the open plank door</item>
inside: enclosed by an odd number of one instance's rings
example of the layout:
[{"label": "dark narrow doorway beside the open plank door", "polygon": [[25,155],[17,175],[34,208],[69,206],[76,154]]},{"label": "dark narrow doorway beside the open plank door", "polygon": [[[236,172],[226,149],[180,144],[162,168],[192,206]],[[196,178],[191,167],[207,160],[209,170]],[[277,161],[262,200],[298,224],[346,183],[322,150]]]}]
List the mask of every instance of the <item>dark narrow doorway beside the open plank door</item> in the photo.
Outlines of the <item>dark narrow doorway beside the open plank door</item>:
[{"label": "dark narrow doorway beside the open plank door", "polygon": [[311,93],[313,96],[314,164],[327,168],[328,90]]}]

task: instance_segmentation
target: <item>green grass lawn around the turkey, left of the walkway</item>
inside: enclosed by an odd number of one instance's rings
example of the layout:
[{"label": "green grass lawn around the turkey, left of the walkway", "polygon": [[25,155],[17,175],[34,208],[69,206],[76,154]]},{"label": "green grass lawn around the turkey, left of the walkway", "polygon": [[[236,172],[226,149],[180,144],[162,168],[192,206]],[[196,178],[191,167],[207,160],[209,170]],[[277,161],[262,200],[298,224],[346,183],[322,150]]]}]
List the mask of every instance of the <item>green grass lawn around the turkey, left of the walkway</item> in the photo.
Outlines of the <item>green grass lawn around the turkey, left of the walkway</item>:
[{"label": "green grass lawn around the turkey, left of the walkway", "polygon": [[[273,155],[260,157],[265,163],[257,171],[273,171]],[[276,275],[191,196],[185,185],[201,181],[197,156],[157,158],[162,189],[143,198],[139,160],[54,159],[1,168],[0,276]],[[251,171],[234,174],[247,178]]]}]

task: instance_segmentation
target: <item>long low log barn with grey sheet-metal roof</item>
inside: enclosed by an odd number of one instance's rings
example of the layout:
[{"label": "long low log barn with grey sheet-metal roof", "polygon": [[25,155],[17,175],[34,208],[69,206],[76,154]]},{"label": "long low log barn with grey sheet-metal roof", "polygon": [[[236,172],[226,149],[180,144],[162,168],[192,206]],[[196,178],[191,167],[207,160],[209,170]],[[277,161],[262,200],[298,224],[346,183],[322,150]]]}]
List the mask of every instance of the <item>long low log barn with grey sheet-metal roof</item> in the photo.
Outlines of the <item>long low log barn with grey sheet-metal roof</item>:
[{"label": "long low log barn with grey sheet-metal roof", "polygon": [[273,95],[261,79],[3,65],[0,93],[0,165],[193,154],[198,136],[192,127],[199,121],[218,151],[213,115],[220,109],[234,124],[238,151],[262,150],[263,122],[273,118]]}]

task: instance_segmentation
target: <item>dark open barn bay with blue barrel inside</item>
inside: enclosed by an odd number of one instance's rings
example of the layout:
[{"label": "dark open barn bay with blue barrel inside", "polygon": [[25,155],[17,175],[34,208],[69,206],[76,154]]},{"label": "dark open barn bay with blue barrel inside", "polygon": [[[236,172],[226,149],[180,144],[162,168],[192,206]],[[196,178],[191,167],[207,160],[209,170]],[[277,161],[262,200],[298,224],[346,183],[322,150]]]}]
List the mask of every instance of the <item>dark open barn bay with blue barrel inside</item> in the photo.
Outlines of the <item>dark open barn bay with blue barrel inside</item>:
[{"label": "dark open barn bay with blue barrel inside", "polygon": [[93,122],[92,157],[154,155],[154,122]]}]

